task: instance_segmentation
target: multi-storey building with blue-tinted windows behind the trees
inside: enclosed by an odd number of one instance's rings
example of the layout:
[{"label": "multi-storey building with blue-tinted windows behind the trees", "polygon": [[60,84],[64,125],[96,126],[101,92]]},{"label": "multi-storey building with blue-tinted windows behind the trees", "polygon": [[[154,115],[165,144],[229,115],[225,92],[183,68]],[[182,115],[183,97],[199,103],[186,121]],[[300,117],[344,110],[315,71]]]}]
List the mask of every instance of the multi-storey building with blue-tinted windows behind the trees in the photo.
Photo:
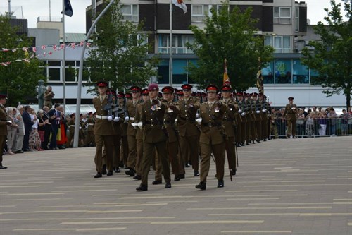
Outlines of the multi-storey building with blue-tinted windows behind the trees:
[{"label": "multi-storey building with blue-tinted windows behind the trees", "polygon": [[[196,63],[197,57],[187,49],[187,42],[194,40],[189,25],[204,27],[203,20],[210,14],[211,8],[222,7],[221,0],[184,0],[188,12],[173,6],[172,11],[172,85],[180,88],[184,83],[193,83],[189,78],[188,66]],[[170,83],[170,0],[120,0],[122,16],[125,20],[138,23],[144,20],[144,30],[153,42],[151,54],[158,54],[161,59],[158,76],[151,82],[161,87]],[[334,106],[343,107],[346,98],[334,95],[326,98],[320,86],[310,85],[310,78],[317,76],[315,71],[301,64],[301,49],[309,40],[319,40],[314,35],[312,25],[307,24],[307,4],[294,0],[230,0],[230,10],[234,6],[241,9],[253,8],[252,17],[258,19],[256,32],[265,37],[265,44],[275,49],[274,61],[263,68],[265,95],[275,107],[287,103],[287,97],[295,97],[295,102],[304,107]],[[92,25],[92,16],[101,11],[103,1],[96,1],[86,10],[87,32]],[[77,41],[77,40],[76,40]],[[67,41],[66,41],[67,42]],[[49,53],[50,48],[40,49],[39,54]],[[72,102],[77,90],[77,70],[80,64],[80,48],[66,49],[65,54],[65,93]],[[86,54],[87,56],[87,54]],[[40,57],[46,61],[48,82],[56,90],[56,96],[63,97],[63,54],[52,52],[51,56]],[[89,69],[89,68],[84,68]],[[236,76],[229,74],[231,76]],[[89,78],[84,77],[87,81]],[[87,87],[82,89],[82,102],[91,102],[92,95],[87,94]],[[250,88],[247,92],[257,91]],[[70,102],[69,102],[70,103]]]}]

